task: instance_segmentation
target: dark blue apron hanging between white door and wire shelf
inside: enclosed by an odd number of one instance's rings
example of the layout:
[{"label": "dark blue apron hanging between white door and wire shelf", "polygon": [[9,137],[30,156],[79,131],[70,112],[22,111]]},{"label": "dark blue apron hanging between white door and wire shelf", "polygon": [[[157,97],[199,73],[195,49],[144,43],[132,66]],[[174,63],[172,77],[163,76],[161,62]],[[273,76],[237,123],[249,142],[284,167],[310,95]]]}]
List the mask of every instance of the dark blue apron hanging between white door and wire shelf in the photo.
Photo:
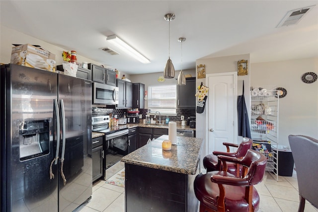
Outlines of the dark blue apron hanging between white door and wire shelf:
[{"label": "dark blue apron hanging between white door and wire shelf", "polygon": [[244,98],[244,80],[243,80],[243,94],[238,96],[238,133],[239,136],[251,139],[248,113]]}]

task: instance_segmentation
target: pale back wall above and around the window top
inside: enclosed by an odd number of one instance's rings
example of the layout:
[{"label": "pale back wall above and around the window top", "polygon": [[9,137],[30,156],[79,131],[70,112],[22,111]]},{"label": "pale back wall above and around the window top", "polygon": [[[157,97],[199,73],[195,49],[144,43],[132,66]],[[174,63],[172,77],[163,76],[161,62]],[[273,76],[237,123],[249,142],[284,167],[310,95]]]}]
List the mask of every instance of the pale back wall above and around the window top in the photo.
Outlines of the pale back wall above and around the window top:
[{"label": "pale back wall above and around the window top", "polygon": [[[145,90],[147,90],[147,91],[148,91],[149,85],[176,84],[177,83],[176,78],[178,77],[180,71],[175,71],[175,73],[174,73],[175,78],[165,79],[164,82],[158,81],[159,76],[163,76],[163,68],[164,68],[164,64],[162,65],[162,72],[131,74],[129,79],[134,83],[140,82],[140,83],[145,84]],[[194,69],[183,70],[183,73],[184,74],[191,74],[193,77],[195,77],[195,70]],[[148,108],[148,101],[145,101],[145,108]]]}]

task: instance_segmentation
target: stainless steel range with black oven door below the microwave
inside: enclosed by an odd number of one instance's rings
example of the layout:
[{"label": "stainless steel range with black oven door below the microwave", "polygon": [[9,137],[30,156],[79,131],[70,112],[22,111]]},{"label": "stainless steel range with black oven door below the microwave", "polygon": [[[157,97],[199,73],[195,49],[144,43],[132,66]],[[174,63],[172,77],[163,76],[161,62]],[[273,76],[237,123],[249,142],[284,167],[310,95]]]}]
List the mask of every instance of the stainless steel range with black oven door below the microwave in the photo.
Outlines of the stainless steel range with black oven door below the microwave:
[{"label": "stainless steel range with black oven door below the microwave", "polygon": [[[92,117],[92,131],[105,134],[104,139],[104,158],[103,158],[103,177],[107,180],[107,172],[110,167],[116,164],[120,159],[128,154],[128,127],[119,125],[109,127],[109,116]],[[113,166],[111,173],[116,173],[119,166]]]}]

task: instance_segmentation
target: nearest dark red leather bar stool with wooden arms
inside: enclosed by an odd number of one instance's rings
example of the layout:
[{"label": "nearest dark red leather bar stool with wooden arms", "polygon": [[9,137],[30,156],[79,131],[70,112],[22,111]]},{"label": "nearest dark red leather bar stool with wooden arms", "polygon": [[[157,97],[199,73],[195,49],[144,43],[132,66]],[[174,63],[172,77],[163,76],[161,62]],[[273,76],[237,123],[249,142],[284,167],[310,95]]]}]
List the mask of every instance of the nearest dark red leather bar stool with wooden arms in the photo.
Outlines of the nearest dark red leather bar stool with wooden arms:
[{"label": "nearest dark red leather bar stool with wooden arms", "polygon": [[[259,195],[254,185],[263,179],[266,157],[248,149],[239,159],[219,155],[224,162],[239,163],[246,169],[246,175],[238,178],[226,171],[212,171],[199,174],[194,180],[194,193],[200,201],[200,212],[255,212],[259,209]],[[227,161],[227,162],[226,162]]]}]

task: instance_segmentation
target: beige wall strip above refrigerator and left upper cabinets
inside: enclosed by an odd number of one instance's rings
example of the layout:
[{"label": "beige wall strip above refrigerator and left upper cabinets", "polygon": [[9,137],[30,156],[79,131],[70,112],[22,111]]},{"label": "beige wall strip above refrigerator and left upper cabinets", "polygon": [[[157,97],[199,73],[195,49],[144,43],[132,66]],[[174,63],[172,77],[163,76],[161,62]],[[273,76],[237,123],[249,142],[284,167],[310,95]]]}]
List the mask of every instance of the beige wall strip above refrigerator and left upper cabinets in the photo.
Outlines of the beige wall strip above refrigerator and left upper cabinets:
[{"label": "beige wall strip above refrigerator and left upper cabinets", "polygon": [[[62,53],[63,51],[69,51],[75,50],[74,49],[62,49],[60,47],[57,47],[55,45],[49,44],[45,41],[39,40],[37,38],[31,37],[29,35],[23,34],[21,32],[18,32],[14,29],[8,28],[6,26],[1,25],[0,26],[0,63],[3,64],[9,64],[10,63],[10,58],[11,58],[11,51],[12,51],[12,44],[33,44],[33,45],[40,45],[44,49],[48,50],[52,54],[56,55],[55,61],[56,65],[62,65],[63,63],[63,58],[62,58]],[[93,63],[96,65],[101,65],[100,63],[93,61],[91,59],[85,58],[80,56],[79,52],[77,54],[78,62],[82,63],[83,61],[87,63]],[[105,66],[104,66],[105,67]],[[127,78],[130,77],[129,74],[126,73],[121,73],[125,74]]]}]

